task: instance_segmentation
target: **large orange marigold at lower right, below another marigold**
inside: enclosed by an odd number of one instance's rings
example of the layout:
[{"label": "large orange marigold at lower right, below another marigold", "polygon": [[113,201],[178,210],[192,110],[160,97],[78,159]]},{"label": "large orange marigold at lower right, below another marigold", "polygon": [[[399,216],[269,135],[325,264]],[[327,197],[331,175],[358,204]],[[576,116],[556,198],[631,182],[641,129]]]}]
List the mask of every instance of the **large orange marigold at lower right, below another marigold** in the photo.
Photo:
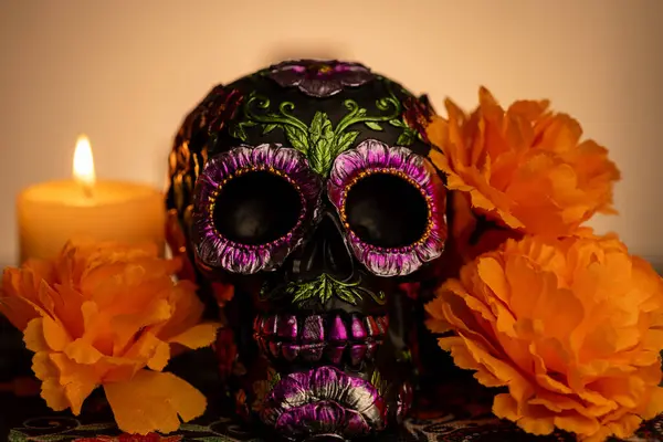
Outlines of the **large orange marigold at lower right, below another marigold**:
[{"label": "large orange marigold at lower right, below another marigold", "polygon": [[456,366],[508,387],[493,412],[534,434],[630,436],[663,411],[663,280],[615,236],[508,240],[427,305]]}]

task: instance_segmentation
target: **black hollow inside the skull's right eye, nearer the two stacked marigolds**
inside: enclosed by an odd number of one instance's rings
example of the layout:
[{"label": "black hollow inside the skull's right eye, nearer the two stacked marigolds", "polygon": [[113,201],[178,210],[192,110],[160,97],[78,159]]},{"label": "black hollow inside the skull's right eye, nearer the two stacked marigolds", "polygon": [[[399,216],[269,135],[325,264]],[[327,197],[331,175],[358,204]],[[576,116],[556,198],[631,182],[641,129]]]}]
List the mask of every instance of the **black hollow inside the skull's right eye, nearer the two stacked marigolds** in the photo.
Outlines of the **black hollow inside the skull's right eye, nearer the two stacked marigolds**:
[{"label": "black hollow inside the skull's right eye, nearer the two stacked marigolds", "polygon": [[429,209],[420,190],[403,178],[372,173],[347,191],[345,202],[349,228],[367,244],[402,248],[425,233]]}]

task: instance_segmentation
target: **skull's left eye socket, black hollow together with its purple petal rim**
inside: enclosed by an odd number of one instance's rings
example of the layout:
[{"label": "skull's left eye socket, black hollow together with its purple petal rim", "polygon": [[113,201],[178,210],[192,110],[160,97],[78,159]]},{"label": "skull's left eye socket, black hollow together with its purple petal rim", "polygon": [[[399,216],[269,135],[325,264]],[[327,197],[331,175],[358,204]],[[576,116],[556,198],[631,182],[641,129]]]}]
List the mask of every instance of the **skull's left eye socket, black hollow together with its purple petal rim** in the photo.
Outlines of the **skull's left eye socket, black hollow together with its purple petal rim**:
[{"label": "skull's left eye socket, black hollow together with its purple petal rim", "polygon": [[210,158],[196,185],[197,261],[242,274],[277,267],[303,241],[320,186],[292,148],[240,146]]}]

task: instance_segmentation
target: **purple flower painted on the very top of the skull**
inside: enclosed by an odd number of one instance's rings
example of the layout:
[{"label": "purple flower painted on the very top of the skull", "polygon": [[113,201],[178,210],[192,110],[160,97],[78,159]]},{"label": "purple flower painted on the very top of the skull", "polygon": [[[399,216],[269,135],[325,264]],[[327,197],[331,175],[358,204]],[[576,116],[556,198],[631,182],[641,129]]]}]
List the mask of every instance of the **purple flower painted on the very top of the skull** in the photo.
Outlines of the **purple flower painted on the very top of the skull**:
[{"label": "purple flower painted on the very top of the skull", "polygon": [[359,63],[301,60],[283,62],[270,69],[270,77],[283,87],[298,87],[306,95],[328,97],[344,87],[357,87],[375,76]]}]

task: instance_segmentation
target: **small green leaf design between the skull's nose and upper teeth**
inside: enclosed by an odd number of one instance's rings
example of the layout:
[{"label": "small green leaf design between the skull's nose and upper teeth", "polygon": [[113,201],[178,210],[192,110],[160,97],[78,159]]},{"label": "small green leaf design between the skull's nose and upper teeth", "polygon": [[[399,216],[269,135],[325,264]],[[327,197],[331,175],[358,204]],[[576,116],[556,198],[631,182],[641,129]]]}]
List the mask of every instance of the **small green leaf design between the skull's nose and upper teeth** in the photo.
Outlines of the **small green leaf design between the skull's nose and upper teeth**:
[{"label": "small green leaf design between the skull's nose and upper teeth", "polygon": [[357,302],[361,301],[365,295],[373,296],[368,290],[361,287],[360,283],[361,281],[344,283],[327,274],[323,274],[307,283],[288,283],[283,294],[292,296],[292,303],[297,304],[299,307],[313,301],[325,304],[333,296],[348,304],[357,305]]}]

